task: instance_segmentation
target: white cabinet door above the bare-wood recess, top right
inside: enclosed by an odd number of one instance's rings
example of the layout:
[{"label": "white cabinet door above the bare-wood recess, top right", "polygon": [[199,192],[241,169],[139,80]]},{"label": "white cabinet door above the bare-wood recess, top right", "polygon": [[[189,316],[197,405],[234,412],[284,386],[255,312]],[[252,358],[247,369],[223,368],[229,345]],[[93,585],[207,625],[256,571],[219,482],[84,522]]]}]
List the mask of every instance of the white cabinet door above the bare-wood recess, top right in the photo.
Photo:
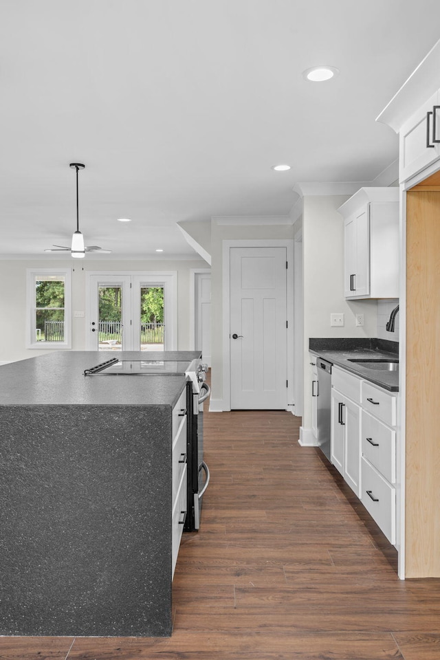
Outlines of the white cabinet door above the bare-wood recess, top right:
[{"label": "white cabinet door above the bare-wood recess, top right", "polygon": [[[440,155],[440,145],[432,142],[432,138],[439,139],[440,111],[437,110],[437,135],[432,133],[433,115],[429,116],[430,126],[428,132],[428,112],[433,112],[434,105],[439,103],[439,92],[436,92],[423,106],[408,119],[401,127],[399,133],[399,179],[407,181],[423,168],[437,160]],[[427,143],[432,146],[427,146]]]}]

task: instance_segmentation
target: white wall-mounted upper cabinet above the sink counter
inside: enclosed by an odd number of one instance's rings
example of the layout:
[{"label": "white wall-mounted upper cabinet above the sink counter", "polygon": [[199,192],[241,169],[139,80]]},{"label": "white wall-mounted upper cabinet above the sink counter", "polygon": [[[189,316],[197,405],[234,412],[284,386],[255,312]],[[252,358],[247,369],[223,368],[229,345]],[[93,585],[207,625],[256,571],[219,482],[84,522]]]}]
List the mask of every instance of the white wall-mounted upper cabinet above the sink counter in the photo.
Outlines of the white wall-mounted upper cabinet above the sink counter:
[{"label": "white wall-mounted upper cabinet above the sink counter", "polygon": [[399,297],[399,189],[360,188],[344,217],[344,295]]}]

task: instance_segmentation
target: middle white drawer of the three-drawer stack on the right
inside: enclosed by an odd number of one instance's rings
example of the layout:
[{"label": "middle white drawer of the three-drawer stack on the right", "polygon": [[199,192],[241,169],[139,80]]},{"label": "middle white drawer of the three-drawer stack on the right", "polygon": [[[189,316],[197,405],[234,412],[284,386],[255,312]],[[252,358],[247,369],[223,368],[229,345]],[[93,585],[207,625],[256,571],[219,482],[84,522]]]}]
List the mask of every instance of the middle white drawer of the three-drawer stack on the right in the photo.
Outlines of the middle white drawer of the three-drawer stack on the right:
[{"label": "middle white drawer of the three-drawer stack on the right", "polygon": [[396,481],[396,432],[362,410],[362,456],[386,481]]}]

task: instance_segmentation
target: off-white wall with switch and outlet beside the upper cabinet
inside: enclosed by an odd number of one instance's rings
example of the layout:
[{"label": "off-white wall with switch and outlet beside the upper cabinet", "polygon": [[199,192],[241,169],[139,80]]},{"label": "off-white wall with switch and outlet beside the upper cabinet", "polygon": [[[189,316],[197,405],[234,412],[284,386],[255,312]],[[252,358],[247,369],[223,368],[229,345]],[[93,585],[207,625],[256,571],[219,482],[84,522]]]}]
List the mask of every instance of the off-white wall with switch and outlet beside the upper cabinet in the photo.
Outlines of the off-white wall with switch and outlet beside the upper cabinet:
[{"label": "off-white wall with switch and outlet beside the upper cabinet", "polygon": [[[311,427],[309,338],[376,337],[375,300],[344,298],[344,221],[338,208],[349,195],[303,199],[304,392],[303,428]],[[342,312],[344,327],[331,327],[330,315]],[[364,314],[364,327],[355,315]]]}]

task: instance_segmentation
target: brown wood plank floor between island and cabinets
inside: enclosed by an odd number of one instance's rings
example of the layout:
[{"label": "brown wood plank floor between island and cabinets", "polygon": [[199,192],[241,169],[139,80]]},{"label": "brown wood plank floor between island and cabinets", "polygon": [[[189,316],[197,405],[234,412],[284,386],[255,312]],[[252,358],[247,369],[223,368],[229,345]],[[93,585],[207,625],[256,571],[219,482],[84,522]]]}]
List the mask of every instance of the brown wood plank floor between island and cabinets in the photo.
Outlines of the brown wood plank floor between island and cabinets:
[{"label": "brown wood plank floor between island and cabinets", "polygon": [[288,412],[206,413],[211,483],[184,534],[170,638],[2,637],[1,660],[439,660],[440,580],[401,582]]}]

